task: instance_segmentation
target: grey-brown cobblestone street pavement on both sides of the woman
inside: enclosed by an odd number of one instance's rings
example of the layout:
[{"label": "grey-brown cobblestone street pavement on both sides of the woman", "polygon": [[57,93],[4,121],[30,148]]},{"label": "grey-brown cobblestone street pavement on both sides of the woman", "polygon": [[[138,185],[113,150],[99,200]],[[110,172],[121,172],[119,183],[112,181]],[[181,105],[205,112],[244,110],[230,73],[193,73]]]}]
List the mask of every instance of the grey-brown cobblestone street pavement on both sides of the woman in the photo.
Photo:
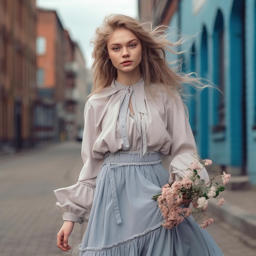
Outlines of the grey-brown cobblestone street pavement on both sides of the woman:
[{"label": "grey-brown cobblestone street pavement on both sides of the woman", "polygon": [[[56,247],[63,220],[53,190],[76,182],[82,167],[81,144],[65,142],[0,159],[0,255],[71,256]],[[85,225],[70,237],[75,248]],[[216,219],[208,229],[225,256],[255,255],[251,238]],[[74,254],[76,255],[76,254]]]}]

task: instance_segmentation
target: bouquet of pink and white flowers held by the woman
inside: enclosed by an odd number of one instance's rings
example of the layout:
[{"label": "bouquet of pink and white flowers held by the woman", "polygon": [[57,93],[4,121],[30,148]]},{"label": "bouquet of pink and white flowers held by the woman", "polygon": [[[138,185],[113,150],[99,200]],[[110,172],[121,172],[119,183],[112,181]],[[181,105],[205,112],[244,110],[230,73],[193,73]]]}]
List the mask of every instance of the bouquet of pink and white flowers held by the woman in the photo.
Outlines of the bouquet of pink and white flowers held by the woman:
[{"label": "bouquet of pink and white flowers held by the woman", "polygon": [[[180,181],[175,181],[162,190],[162,193],[154,195],[153,200],[158,200],[158,207],[162,211],[164,222],[162,224],[166,229],[176,227],[193,213],[198,213],[199,216],[195,218],[197,221],[200,216],[204,215],[203,223],[200,225],[202,229],[206,229],[214,221],[209,218],[205,212],[208,209],[208,199],[216,198],[218,200],[217,206],[224,204],[224,198],[218,199],[220,192],[225,190],[224,185],[229,182],[230,174],[225,171],[217,174],[211,178],[209,182],[205,182],[200,177],[200,171],[204,166],[211,165],[210,159],[199,159],[195,157],[191,162],[189,168],[185,172],[185,176]],[[215,180],[222,177],[222,184]],[[192,207],[189,204],[184,204],[183,199],[191,200]]]}]

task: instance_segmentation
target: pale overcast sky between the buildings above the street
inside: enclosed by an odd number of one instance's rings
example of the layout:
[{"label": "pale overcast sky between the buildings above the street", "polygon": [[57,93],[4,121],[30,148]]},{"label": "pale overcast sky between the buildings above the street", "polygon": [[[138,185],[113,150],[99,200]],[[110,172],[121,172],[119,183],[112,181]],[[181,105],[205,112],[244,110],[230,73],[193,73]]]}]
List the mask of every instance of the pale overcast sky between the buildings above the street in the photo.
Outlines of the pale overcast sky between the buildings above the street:
[{"label": "pale overcast sky between the buildings above the street", "polygon": [[37,7],[55,10],[64,29],[69,31],[83,52],[86,67],[90,68],[92,47],[96,27],[111,13],[137,17],[137,0],[36,0]]}]

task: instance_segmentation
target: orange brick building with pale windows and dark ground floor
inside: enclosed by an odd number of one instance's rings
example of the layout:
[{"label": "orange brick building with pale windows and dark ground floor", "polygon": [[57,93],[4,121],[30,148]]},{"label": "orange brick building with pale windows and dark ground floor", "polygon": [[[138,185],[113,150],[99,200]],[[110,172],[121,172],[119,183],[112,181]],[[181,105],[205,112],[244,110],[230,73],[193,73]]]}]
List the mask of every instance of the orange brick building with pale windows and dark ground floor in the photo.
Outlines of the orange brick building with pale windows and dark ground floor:
[{"label": "orange brick building with pale windows and dark ground floor", "polygon": [[37,9],[37,20],[34,137],[65,139],[65,32],[54,10]]}]

